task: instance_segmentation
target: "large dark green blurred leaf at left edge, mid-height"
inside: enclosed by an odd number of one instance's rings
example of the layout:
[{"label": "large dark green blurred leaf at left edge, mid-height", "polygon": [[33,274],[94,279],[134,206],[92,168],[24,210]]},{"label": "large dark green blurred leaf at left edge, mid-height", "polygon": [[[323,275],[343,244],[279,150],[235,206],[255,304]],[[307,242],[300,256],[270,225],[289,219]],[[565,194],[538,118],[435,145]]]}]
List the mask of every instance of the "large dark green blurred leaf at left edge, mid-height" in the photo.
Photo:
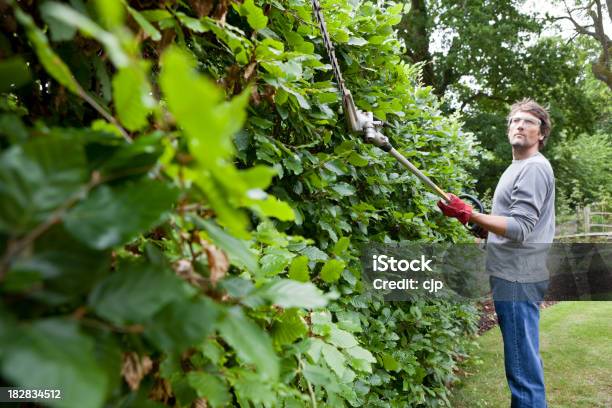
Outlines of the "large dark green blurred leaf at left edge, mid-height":
[{"label": "large dark green blurred leaf at left edge, mid-height", "polygon": [[0,155],[0,231],[19,235],[74,198],[87,180],[83,146],[47,136]]}]

